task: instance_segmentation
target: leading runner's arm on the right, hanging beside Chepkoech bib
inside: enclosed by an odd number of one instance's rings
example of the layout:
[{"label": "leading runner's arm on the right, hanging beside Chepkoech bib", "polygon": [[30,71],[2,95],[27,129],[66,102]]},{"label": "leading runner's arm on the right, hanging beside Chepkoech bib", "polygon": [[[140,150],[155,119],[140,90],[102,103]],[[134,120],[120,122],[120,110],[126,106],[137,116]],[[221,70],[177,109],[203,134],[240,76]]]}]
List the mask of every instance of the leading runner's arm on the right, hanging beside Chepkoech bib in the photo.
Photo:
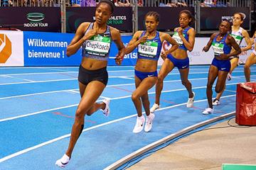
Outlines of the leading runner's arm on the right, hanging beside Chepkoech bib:
[{"label": "leading runner's arm on the right, hanging beside Chepkoech bib", "polygon": [[122,42],[122,38],[119,33],[119,30],[117,30],[116,28],[110,27],[110,31],[111,31],[111,35],[112,35],[112,40],[117,45],[118,53],[115,58],[115,62],[119,65],[122,63],[122,60],[124,59],[124,55],[125,55],[124,43]]}]

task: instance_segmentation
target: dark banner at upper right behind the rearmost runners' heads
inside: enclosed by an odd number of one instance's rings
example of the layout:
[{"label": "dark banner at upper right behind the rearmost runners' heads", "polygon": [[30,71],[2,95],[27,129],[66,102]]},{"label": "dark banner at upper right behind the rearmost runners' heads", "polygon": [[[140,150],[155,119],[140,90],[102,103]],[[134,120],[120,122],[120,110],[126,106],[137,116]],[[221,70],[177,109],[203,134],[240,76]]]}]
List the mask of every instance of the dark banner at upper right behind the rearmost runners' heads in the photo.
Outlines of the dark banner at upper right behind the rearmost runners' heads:
[{"label": "dark banner at upper right behind the rearmost runners' heads", "polygon": [[232,21],[234,13],[243,13],[245,19],[242,28],[250,28],[250,8],[249,7],[204,7],[200,8],[200,27],[201,30],[218,30],[218,26],[223,19]]}]

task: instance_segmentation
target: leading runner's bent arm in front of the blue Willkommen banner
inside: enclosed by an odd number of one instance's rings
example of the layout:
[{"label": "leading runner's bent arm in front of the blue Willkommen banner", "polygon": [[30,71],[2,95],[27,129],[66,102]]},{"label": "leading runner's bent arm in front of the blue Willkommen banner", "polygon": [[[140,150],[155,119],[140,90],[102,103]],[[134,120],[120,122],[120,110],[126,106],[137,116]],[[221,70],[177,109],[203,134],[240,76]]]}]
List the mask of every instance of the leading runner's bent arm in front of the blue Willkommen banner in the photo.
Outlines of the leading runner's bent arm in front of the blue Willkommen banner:
[{"label": "leading runner's bent arm in front of the blue Willkommen banner", "polygon": [[66,55],[68,57],[75,54],[75,52],[80,49],[82,43],[85,42],[85,40],[90,39],[93,35],[96,34],[96,30],[90,30],[85,35],[85,30],[87,30],[89,25],[90,23],[81,23],[78,27],[78,30],[76,31],[73,40],[71,40],[70,45],[68,45],[67,47]]}]

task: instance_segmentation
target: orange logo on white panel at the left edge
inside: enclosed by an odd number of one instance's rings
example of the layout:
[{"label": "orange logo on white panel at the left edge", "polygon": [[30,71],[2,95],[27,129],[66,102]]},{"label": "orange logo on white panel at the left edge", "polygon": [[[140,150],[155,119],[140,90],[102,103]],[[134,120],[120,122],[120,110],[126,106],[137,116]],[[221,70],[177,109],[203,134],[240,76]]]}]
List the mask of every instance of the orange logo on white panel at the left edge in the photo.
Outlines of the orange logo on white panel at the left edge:
[{"label": "orange logo on white panel at the left edge", "polygon": [[0,34],[0,63],[5,63],[11,56],[11,41],[5,34]]}]

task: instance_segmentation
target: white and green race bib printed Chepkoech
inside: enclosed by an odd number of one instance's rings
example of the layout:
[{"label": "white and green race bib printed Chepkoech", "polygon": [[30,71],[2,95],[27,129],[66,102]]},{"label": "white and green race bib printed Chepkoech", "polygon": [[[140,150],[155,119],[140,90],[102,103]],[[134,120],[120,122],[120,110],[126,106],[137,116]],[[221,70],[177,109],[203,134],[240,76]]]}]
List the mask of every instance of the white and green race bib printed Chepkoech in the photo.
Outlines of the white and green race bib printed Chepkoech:
[{"label": "white and green race bib printed Chepkoech", "polygon": [[95,35],[90,40],[85,41],[85,52],[88,55],[106,57],[110,50],[110,37]]}]

